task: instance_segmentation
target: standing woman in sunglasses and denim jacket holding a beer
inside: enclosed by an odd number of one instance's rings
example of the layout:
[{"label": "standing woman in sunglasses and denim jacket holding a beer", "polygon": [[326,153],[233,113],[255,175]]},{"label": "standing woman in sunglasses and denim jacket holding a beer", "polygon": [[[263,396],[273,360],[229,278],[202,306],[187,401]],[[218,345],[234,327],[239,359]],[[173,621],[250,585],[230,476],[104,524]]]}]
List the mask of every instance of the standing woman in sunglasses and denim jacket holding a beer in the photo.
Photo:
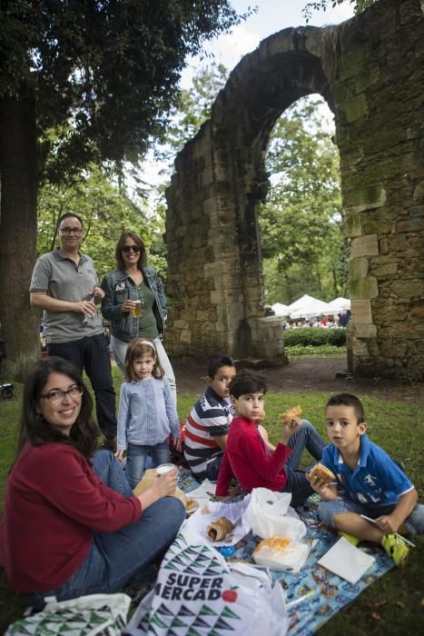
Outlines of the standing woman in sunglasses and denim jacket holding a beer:
[{"label": "standing woman in sunglasses and denim jacket holding a beer", "polygon": [[140,236],[125,232],[116,245],[117,268],[104,276],[102,312],[110,321],[114,359],[124,373],[125,353],[133,338],[153,340],[159,362],[176,403],[173,367],[163,347],[166,296],[163,282],[146,263],[146,250]]}]

